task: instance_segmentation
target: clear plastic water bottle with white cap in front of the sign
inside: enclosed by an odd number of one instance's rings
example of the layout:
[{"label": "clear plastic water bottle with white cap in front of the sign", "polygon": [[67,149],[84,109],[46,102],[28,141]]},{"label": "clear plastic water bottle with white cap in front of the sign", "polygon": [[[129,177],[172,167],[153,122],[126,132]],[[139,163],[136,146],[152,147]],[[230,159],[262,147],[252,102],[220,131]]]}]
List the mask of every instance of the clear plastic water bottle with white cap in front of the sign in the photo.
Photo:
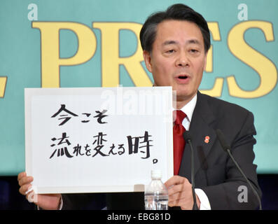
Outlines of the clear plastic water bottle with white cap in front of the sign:
[{"label": "clear plastic water bottle with white cap in front of the sign", "polygon": [[151,172],[151,183],[145,188],[146,210],[168,210],[168,190],[161,177],[161,170]]}]

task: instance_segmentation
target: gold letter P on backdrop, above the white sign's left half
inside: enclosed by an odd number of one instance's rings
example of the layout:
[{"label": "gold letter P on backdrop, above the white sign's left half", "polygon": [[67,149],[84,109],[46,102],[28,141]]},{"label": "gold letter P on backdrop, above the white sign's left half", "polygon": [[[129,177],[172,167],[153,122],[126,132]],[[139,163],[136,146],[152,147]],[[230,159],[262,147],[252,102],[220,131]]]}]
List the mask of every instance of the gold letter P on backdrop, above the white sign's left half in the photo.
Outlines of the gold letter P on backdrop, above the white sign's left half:
[{"label": "gold letter P on backdrop, above the white sign's left half", "polygon": [[[41,87],[60,87],[60,66],[83,64],[94,54],[97,46],[95,34],[89,27],[77,22],[32,22],[41,31]],[[78,50],[73,57],[60,58],[60,29],[74,31]]]}]

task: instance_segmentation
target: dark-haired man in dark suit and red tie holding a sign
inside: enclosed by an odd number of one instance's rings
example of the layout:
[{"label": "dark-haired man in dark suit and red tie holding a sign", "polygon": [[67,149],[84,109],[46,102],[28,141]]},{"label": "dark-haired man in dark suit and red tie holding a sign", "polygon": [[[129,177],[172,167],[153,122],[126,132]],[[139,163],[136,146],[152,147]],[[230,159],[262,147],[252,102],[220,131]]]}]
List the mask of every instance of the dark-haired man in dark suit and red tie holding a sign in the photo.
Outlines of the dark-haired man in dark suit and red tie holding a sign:
[{"label": "dark-haired man in dark suit and red tie holding a sign", "polygon": [[[256,143],[253,139],[256,134],[253,115],[240,106],[198,92],[210,47],[207,22],[188,6],[176,4],[146,20],[140,41],[146,68],[153,74],[154,85],[172,86],[176,91],[174,176],[165,183],[169,192],[169,207],[193,208],[190,146],[175,141],[179,135],[182,140],[182,132],[189,130],[195,151],[197,207],[256,209],[256,196],[221,148],[215,133],[217,129],[223,131],[232,155],[261,195],[256,165],[253,165],[253,144]],[[178,146],[181,146],[179,150]],[[20,193],[25,194],[32,177],[21,173],[18,179]],[[240,198],[242,189],[246,189],[247,194],[244,200]],[[76,209],[85,203],[80,200],[82,197],[88,199],[89,195],[39,195],[37,204],[43,209]],[[142,193],[109,194],[107,201],[108,209],[144,209]]]}]

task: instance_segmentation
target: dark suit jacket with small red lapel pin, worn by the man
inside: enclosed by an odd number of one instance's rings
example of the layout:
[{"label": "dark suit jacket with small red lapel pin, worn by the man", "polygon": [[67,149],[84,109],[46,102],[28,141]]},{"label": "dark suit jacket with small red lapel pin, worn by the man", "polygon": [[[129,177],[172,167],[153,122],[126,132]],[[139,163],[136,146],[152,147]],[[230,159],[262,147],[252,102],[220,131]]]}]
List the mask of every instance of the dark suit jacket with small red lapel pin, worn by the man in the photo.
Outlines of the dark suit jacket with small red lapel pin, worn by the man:
[{"label": "dark suit jacket with small red lapel pin, worn by the man", "polygon": [[[223,151],[215,130],[222,130],[231,146],[231,153],[261,197],[258,186],[253,145],[256,134],[253,114],[241,106],[197,93],[197,103],[190,122],[190,134],[195,156],[195,188],[204,190],[211,209],[256,209],[258,200],[237,167]],[[209,137],[209,143],[205,143]],[[190,146],[186,144],[179,176],[191,182]],[[247,202],[242,202],[242,188],[247,188]],[[246,189],[245,188],[245,189]],[[95,194],[97,195],[97,194]],[[76,209],[78,195],[63,195],[63,209]],[[88,195],[86,195],[88,198]],[[108,209],[144,209],[144,193],[107,194]],[[69,206],[67,206],[67,204]],[[74,205],[75,204],[75,205]]]}]

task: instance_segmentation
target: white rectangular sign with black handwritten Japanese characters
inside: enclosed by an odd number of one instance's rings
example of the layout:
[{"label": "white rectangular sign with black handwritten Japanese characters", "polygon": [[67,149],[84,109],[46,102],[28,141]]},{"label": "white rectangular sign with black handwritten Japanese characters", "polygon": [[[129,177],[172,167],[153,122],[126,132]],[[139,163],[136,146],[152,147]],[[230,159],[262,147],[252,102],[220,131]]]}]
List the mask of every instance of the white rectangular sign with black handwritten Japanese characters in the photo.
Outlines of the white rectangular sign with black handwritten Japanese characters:
[{"label": "white rectangular sign with black handwritten Japanese characters", "polygon": [[35,193],[144,190],[173,176],[172,87],[25,89]]}]

